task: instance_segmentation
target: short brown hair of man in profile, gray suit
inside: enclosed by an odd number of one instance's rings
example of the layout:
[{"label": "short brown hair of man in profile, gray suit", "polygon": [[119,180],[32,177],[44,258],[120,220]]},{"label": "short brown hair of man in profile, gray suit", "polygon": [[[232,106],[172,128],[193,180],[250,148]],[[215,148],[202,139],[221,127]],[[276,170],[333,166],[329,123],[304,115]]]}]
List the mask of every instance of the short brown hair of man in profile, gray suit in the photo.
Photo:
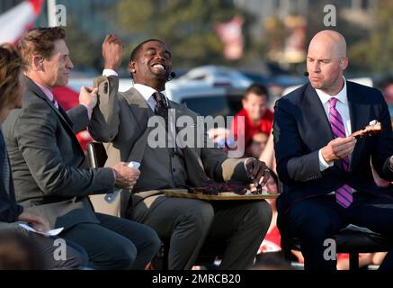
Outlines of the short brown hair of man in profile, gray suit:
[{"label": "short brown hair of man in profile, gray suit", "polygon": [[40,27],[25,32],[18,44],[25,68],[29,69],[35,53],[49,59],[55,49],[54,42],[65,38],[66,31],[61,27]]}]

